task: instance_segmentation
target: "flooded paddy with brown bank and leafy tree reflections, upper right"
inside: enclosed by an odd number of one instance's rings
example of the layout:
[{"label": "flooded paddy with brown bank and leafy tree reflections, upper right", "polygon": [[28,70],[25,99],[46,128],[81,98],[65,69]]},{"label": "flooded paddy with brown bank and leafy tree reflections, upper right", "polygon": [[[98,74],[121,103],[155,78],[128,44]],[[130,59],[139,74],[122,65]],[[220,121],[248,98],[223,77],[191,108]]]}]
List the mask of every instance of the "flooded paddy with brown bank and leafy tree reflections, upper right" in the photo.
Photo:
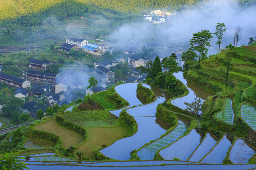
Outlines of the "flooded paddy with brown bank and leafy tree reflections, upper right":
[{"label": "flooded paddy with brown bank and leafy tree reflections, upper right", "polygon": [[178,73],[174,73],[173,75],[188,88],[189,94],[184,97],[172,100],[172,104],[179,108],[182,108],[183,110],[188,110],[195,114],[201,115],[201,105],[206,97],[210,95],[210,93],[207,93],[202,89],[195,87],[191,83],[188,84],[187,80],[185,80],[183,77],[183,72],[181,71]]}]

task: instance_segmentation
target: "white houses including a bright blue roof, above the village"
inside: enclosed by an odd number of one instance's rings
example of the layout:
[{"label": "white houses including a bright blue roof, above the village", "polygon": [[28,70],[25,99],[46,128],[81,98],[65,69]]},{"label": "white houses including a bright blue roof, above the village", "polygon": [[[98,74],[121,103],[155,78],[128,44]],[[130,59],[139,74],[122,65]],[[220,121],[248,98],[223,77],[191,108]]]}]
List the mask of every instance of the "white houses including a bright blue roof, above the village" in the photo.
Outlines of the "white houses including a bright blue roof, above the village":
[{"label": "white houses including a bright blue roof, above the village", "polygon": [[89,54],[103,55],[105,52],[109,51],[109,48],[110,47],[105,44],[90,43],[84,39],[67,38],[66,42],[61,45],[59,51],[66,51],[68,53],[72,49],[81,49],[82,51],[87,52]]}]

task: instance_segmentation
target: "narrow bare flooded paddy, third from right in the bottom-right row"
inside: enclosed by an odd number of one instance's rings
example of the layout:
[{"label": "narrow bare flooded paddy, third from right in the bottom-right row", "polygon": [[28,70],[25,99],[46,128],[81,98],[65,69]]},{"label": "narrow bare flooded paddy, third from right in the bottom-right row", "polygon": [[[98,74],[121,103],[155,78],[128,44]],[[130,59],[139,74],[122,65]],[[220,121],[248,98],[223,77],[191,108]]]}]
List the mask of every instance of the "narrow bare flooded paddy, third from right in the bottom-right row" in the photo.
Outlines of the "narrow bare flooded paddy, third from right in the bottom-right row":
[{"label": "narrow bare flooded paddy, third from right in the bottom-right row", "polygon": [[189,161],[199,162],[207,153],[210,152],[211,148],[213,148],[215,144],[217,144],[216,137],[212,137],[210,134],[207,134]]}]

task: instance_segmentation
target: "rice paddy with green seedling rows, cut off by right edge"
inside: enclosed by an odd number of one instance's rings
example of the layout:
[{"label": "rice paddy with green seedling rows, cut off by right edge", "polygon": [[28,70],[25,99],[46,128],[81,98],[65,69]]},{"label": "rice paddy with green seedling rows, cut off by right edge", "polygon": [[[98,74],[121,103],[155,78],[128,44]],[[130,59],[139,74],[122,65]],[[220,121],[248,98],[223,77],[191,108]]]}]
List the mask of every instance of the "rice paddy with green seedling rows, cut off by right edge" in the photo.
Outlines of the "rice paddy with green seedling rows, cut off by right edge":
[{"label": "rice paddy with green seedling rows, cut off by right edge", "polygon": [[241,108],[241,116],[246,123],[256,131],[256,110],[252,104],[243,104]]}]

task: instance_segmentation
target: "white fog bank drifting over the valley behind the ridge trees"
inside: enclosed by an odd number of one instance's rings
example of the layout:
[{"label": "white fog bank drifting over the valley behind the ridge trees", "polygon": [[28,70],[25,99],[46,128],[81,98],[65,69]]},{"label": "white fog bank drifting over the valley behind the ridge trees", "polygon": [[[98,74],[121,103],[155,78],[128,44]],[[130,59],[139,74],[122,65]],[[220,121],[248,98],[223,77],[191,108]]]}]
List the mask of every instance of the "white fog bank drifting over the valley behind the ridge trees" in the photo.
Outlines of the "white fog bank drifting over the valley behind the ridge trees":
[{"label": "white fog bank drifting over the valley behind the ridge trees", "polygon": [[[165,48],[183,47],[186,51],[190,47],[189,41],[193,33],[204,29],[214,33],[217,23],[224,23],[227,31],[224,32],[221,47],[234,45],[233,36],[236,26],[241,26],[243,29],[242,38],[238,41],[238,46],[241,46],[247,45],[249,38],[256,35],[255,17],[255,6],[244,8],[233,1],[218,0],[178,13],[164,24],[154,25],[145,20],[121,26],[110,37],[116,43],[160,42]],[[217,37],[215,34],[212,36],[208,55],[218,53],[218,45],[215,44],[218,41]]]}]

